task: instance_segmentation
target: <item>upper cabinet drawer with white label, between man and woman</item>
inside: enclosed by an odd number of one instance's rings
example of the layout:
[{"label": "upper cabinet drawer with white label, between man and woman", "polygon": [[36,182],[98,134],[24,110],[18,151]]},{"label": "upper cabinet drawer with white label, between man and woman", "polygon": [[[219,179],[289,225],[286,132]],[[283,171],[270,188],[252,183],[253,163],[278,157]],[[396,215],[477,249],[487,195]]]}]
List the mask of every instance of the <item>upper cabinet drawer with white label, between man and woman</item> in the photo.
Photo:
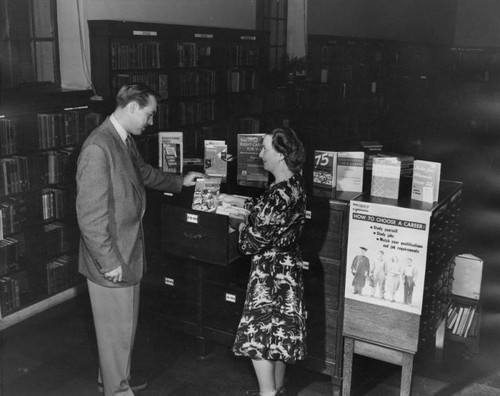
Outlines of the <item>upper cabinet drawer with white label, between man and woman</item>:
[{"label": "upper cabinet drawer with white label, between man and woman", "polygon": [[236,260],[238,233],[229,232],[229,218],[164,203],[162,250],[205,263],[226,266]]}]

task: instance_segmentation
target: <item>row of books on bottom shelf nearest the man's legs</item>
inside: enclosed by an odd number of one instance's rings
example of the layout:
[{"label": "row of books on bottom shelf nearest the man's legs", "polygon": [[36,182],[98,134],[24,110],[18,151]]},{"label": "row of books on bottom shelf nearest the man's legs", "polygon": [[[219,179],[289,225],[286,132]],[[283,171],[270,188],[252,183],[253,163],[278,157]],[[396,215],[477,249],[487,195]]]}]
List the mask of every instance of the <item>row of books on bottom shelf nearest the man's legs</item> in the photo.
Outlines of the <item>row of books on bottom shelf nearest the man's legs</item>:
[{"label": "row of books on bottom shelf nearest the man's legs", "polygon": [[46,264],[47,294],[60,293],[76,283],[78,260],[75,255],[62,255]]}]

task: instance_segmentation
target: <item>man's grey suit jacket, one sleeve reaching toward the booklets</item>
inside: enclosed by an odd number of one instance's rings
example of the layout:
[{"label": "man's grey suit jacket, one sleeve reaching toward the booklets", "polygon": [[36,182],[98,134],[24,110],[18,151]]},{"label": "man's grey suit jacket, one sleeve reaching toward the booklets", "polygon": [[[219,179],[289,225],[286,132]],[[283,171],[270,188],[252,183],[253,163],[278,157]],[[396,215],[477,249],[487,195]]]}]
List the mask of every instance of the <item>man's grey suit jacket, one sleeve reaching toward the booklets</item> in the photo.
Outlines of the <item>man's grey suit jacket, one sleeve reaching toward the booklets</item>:
[{"label": "man's grey suit jacket, one sleeve reaching toward the booklets", "polygon": [[[108,118],[90,134],[78,158],[79,271],[101,286],[130,286],[141,280],[146,265],[144,186],[174,193],[182,189],[182,176],[146,164],[133,142],[132,150],[135,167]],[[107,281],[103,274],[119,266],[124,282]]]}]

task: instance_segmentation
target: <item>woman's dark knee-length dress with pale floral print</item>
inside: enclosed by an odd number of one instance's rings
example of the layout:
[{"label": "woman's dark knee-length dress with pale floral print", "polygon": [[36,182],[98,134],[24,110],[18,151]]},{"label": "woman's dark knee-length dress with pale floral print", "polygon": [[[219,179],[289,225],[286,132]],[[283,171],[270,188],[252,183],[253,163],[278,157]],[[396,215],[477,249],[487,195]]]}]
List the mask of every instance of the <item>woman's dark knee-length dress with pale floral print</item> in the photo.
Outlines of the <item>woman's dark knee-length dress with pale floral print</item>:
[{"label": "woman's dark knee-length dress with pale floral print", "polygon": [[300,174],[254,200],[239,248],[252,265],[233,352],[252,359],[295,363],[306,356],[302,256],[297,244],[305,221]]}]

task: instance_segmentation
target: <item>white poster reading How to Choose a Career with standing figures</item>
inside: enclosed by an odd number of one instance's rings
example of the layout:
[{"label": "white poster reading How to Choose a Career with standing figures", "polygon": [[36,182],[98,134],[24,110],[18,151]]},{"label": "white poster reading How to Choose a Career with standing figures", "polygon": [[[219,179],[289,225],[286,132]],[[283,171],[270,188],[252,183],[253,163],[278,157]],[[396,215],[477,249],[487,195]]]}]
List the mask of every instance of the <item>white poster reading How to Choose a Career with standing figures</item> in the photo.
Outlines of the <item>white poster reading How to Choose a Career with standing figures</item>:
[{"label": "white poster reading How to Choose a Career with standing figures", "polygon": [[430,216],[430,211],[351,201],[346,299],[420,315]]}]

